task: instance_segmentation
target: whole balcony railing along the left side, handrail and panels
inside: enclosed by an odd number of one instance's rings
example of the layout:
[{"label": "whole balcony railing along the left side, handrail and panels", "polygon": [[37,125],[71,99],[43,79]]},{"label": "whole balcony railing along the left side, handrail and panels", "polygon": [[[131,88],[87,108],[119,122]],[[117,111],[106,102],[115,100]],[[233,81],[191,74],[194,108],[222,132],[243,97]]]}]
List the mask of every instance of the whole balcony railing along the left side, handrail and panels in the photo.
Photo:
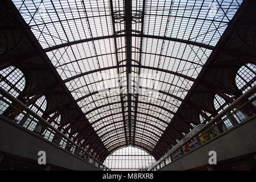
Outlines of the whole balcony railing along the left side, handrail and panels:
[{"label": "whole balcony railing along the left side, handrail and panels", "polygon": [[[0,88],[0,100],[5,103],[6,106],[13,107],[16,111],[18,111],[25,118],[26,121],[30,119],[36,125],[36,127],[32,130],[36,134],[39,134],[40,137],[49,140],[53,144],[60,147],[61,150],[65,150],[71,152],[73,155],[79,156],[79,158],[85,160],[86,162],[92,164],[93,166],[101,169],[102,171],[110,171],[108,167],[102,164],[98,159],[96,159],[93,155],[89,154],[88,151],[84,150],[77,143],[73,142],[66,135],[61,133],[61,131],[57,130],[54,126],[52,126],[49,122],[47,122],[44,118],[40,117],[34,111],[32,111],[29,107],[20,102],[17,98],[13,97],[10,93],[6,92],[6,90]],[[15,105],[14,105],[15,103]],[[19,109],[17,108],[19,107]],[[0,104],[1,107],[1,104]],[[20,109],[22,108],[22,109]],[[16,121],[14,119],[14,122]],[[25,125],[22,125],[25,126]],[[42,132],[43,131],[43,132]]]}]

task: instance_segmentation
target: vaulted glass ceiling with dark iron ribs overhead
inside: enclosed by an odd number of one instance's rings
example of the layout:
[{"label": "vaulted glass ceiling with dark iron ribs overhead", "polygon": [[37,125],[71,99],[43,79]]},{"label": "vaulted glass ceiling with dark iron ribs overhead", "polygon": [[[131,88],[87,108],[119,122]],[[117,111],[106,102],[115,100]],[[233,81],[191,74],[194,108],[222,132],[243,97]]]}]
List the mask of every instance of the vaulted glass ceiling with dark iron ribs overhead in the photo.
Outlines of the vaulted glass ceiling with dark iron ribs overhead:
[{"label": "vaulted glass ceiling with dark iron ribs overhead", "polygon": [[242,1],[13,0],[109,151],[152,151]]}]

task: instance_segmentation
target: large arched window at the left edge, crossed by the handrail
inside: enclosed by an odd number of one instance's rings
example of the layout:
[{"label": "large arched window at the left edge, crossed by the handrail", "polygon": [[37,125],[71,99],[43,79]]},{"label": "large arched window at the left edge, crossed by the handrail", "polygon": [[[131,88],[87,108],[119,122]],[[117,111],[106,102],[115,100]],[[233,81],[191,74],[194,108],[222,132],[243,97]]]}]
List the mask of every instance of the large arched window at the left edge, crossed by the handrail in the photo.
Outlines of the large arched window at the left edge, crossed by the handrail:
[{"label": "large arched window at the left edge, crossed by the handrail", "polygon": [[[15,67],[8,67],[0,71],[0,86],[14,97],[18,97],[26,84],[23,73]],[[2,97],[2,95],[0,95]],[[6,98],[5,98],[6,99]],[[8,107],[8,104],[0,100],[0,114]]]}]

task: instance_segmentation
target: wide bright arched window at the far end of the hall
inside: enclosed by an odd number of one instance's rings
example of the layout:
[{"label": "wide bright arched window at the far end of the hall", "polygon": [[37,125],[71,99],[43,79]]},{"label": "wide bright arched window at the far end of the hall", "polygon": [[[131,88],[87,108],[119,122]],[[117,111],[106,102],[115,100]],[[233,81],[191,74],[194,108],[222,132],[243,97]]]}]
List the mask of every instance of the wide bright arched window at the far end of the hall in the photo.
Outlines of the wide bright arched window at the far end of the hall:
[{"label": "wide bright arched window at the far end of the hall", "polygon": [[146,170],[156,160],[148,152],[137,147],[123,147],[110,154],[104,165],[111,170]]}]

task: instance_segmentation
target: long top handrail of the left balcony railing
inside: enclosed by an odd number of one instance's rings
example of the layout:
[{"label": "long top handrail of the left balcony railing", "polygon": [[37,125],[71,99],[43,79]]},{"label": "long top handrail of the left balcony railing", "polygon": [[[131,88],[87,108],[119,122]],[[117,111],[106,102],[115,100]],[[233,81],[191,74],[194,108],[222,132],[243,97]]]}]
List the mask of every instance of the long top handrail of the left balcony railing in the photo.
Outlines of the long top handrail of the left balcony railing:
[{"label": "long top handrail of the left balcony railing", "polygon": [[15,98],[13,95],[11,95],[9,92],[7,92],[5,89],[0,87],[0,94],[2,94],[3,97],[6,97],[8,100],[15,102],[16,104],[18,104],[20,107],[22,107],[22,109],[24,109],[24,111],[27,111],[28,113],[30,113],[33,117],[35,117],[36,119],[38,119],[40,122],[42,122],[41,124],[46,125],[47,127],[49,127],[51,130],[55,131],[57,134],[59,134],[61,137],[63,137],[64,139],[67,140],[67,142],[72,143],[74,146],[76,146],[77,148],[79,148],[82,152],[84,152],[86,155],[90,156],[91,158],[93,158],[96,162],[98,162],[99,164],[101,164],[102,166],[104,166],[106,169],[109,169],[108,167],[106,167],[104,164],[102,164],[100,162],[100,160],[94,158],[94,156],[90,155],[88,152],[86,152],[84,150],[84,148],[80,147],[78,144],[76,144],[75,142],[73,142],[73,140],[71,140],[70,138],[68,138],[66,135],[64,135],[63,133],[61,133],[61,131],[57,130],[55,127],[53,127],[50,123],[48,123],[44,118],[40,117],[38,114],[36,114],[34,111],[32,111],[28,106],[26,106],[25,104],[23,104],[23,102],[19,101],[17,98]]}]

